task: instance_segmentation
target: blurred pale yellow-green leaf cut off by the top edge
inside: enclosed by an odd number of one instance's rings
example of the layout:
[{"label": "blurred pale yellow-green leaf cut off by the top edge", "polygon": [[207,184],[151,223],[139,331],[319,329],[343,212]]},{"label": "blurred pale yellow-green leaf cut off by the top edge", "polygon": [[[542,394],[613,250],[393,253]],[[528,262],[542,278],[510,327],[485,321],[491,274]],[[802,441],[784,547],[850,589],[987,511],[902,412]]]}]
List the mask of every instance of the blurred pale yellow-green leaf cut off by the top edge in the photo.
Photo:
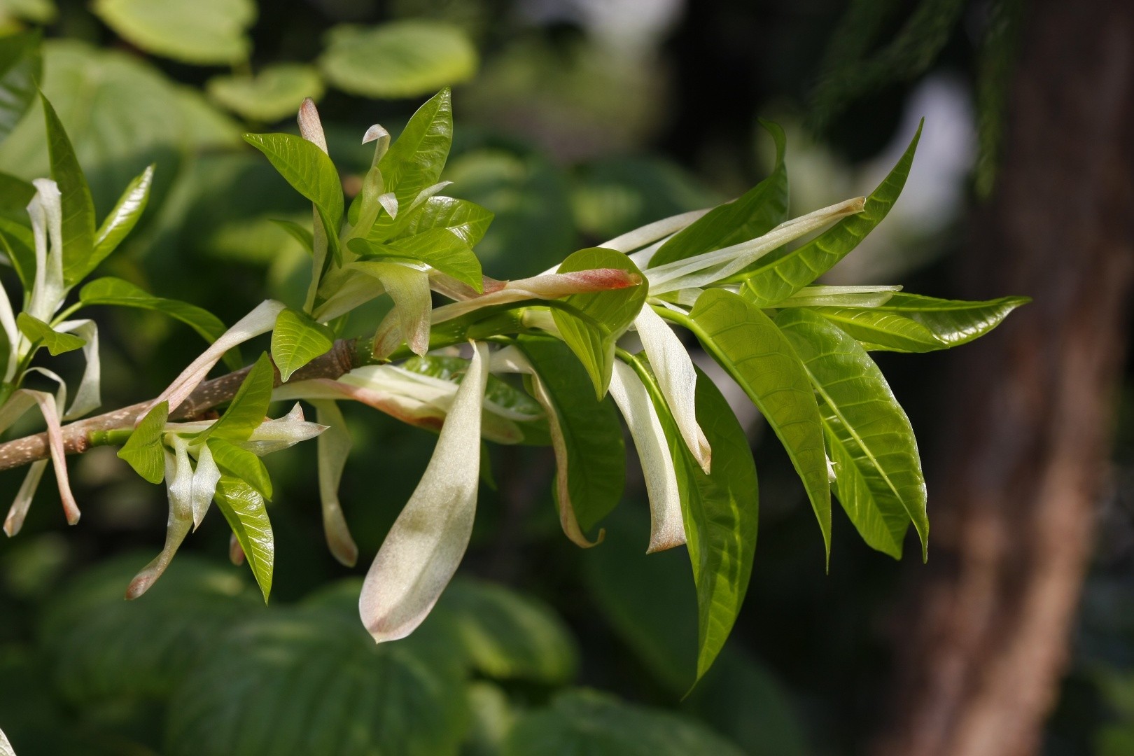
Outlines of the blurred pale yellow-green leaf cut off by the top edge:
[{"label": "blurred pale yellow-green leaf cut off by the top edge", "polygon": [[252,0],[95,0],[107,26],[164,58],[197,66],[236,63],[248,58],[245,32],[256,19]]}]

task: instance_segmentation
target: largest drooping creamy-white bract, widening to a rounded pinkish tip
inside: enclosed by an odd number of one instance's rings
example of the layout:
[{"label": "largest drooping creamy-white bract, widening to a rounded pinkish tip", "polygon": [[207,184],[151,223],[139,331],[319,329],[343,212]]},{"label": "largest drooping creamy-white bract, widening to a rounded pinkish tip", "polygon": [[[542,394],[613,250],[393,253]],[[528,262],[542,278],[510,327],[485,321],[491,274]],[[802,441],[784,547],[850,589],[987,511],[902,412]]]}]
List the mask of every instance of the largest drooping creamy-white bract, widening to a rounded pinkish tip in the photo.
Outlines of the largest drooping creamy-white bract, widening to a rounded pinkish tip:
[{"label": "largest drooping creamy-white bract, widening to a rounded pinkish tip", "polygon": [[488,346],[475,345],[425,474],[366,572],[358,612],[379,643],[404,638],[421,625],[468,546],[488,368]]}]

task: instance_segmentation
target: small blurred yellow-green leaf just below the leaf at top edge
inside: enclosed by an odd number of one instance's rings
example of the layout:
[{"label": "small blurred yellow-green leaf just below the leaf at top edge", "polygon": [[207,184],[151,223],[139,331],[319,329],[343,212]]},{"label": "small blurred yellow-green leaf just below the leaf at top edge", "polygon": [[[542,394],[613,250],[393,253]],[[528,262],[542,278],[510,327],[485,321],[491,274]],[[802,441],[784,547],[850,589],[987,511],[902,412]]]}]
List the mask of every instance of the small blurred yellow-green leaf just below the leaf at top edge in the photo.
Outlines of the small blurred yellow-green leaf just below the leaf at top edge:
[{"label": "small blurred yellow-green leaf just below the leaf at top edge", "polygon": [[265,66],[255,76],[215,76],[205,85],[213,102],[251,121],[294,117],[304,97],[323,96],[319,71],[302,63]]}]

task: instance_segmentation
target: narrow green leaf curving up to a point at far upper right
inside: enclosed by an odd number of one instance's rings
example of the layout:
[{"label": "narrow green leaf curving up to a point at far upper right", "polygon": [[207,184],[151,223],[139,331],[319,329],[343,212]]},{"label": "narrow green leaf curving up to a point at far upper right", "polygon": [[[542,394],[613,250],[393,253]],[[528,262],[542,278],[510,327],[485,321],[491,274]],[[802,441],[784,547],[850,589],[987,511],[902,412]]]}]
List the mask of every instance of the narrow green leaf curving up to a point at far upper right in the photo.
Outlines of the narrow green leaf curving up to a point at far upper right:
[{"label": "narrow green leaf curving up to a point at far upper right", "polygon": [[909,176],[909,167],[914,161],[914,151],[921,138],[921,129],[919,126],[902,159],[878,188],[866,197],[863,212],[844,218],[811,241],[790,252],[782,248],[773,252],[759,260],[755,270],[738,274],[738,278],[745,280],[746,296],[758,307],[769,307],[787,299],[814,281],[857,247],[858,243],[882,222],[906,185],[906,177]]}]

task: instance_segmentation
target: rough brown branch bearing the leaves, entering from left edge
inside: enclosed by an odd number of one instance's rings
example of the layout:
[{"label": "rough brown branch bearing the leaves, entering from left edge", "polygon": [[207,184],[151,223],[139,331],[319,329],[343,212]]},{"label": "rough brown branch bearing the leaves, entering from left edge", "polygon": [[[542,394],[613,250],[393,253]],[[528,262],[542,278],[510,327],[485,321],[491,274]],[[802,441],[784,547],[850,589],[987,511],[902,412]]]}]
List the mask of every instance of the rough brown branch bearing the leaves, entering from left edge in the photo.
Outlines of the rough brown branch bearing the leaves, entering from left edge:
[{"label": "rough brown branch bearing the leaves, entering from left edge", "polygon": [[[363,362],[358,357],[355,346],[355,339],[339,339],[325,355],[316,357],[296,371],[291,375],[291,381],[337,379],[344,373],[361,366]],[[236,396],[237,389],[240,388],[240,383],[244,382],[244,377],[248,374],[249,369],[252,369],[251,366],[244,367],[211,381],[205,381],[179,407],[170,413],[169,419],[188,419],[230,400]],[[276,385],[280,383],[279,371],[276,371]],[[129,407],[122,407],[121,409],[65,425],[62,430],[64,449],[68,455],[81,455],[98,445],[91,443],[92,432],[133,428],[142,415],[150,409],[152,402],[152,399],[142,401]],[[22,439],[14,439],[0,443],[0,470],[23,467],[40,459],[46,459],[48,456],[48,434],[45,432]]]}]

